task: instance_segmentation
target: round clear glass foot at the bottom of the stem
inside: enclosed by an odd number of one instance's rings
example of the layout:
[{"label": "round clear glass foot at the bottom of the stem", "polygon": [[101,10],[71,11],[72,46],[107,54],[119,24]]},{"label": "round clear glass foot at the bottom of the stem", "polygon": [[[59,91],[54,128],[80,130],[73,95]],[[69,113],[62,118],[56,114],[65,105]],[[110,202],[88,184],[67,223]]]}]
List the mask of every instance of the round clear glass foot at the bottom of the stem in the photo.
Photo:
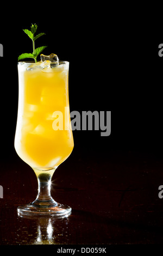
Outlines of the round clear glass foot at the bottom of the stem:
[{"label": "round clear glass foot at the bottom of the stem", "polygon": [[54,217],[60,217],[60,216],[66,216],[70,215],[71,207],[68,205],[63,205],[56,203],[56,205],[51,207],[46,206],[34,206],[33,203],[21,205],[17,208],[17,213],[19,216],[54,216]]}]

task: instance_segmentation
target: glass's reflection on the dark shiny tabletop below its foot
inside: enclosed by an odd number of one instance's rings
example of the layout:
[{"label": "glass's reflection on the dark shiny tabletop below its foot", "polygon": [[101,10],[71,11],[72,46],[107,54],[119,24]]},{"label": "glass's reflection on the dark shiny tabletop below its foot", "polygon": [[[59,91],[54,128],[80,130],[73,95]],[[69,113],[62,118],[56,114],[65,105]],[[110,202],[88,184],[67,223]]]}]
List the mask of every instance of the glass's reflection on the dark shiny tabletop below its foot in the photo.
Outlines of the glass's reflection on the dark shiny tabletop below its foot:
[{"label": "glass's reflection on the dark shiny tabletop below its foot", "polygon": [[[24,229],[24,221],[19,220],[20,228],[17,230],[18,243],[32,245],[57,245],[61,243],[69,243],[69,218],[71,213],[66,216],[58,216],[57,218],[51,216],[31,216],[21,215],[25,220],[26,228]],[[22,230],[24,232],[22,232]]]}]

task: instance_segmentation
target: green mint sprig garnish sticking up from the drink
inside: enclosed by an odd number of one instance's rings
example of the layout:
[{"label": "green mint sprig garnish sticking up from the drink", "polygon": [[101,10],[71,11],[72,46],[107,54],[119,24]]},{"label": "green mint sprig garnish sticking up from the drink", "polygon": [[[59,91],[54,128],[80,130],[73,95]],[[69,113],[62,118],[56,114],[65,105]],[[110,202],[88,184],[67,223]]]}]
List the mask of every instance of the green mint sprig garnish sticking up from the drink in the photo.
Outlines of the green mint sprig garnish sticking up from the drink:
[{"label": "green mint sprig garnish sticking up from the drink", "polygon": [[33,53],[22,53],[20,56],[18,56],[18,60],[20,59],[26,59],[26,58],[33,58],[35,62],[37,62],[37,56],[47,47],[47,46],[41,46],[35,49],[35,40],[37,38],[40,38],[41,35],[45,35],[45,33],[40,33],[36,36],[34,36],[35,32],[37,30],[37,25],[32,24],[31,31],[28,29],[23,29],[23,31],[29,36],[30,39],[32,39],[33,42]]}]

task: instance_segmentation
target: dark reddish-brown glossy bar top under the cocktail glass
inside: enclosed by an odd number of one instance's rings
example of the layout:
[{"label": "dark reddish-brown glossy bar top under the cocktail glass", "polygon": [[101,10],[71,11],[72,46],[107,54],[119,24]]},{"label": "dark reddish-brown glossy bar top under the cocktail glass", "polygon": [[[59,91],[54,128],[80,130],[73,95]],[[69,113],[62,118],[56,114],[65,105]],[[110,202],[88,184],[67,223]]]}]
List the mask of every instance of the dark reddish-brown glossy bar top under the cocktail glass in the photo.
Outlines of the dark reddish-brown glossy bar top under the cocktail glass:
[{"label": "dark reddish-brown glossy bar top under the cocktail glass", "polygon": [[123,245],[163,241],[163,160],[146,153],[73,154],[55,171],[52,196],[65,218],[22,218],[37,195],[33,170],[18,156],[1,162],[1,245]]}]

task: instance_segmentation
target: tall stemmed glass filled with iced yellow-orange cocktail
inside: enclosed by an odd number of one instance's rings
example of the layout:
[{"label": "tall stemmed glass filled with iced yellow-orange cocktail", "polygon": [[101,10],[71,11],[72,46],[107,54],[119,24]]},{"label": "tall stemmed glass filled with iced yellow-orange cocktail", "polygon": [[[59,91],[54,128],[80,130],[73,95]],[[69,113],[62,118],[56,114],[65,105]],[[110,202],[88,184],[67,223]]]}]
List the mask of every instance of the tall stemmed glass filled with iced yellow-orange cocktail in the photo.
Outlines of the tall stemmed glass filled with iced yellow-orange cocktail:
[{"label": "tall stemmed glass filled with iced yellow-orange cocktail", "polygon": [[[39,184],[36,200],[18,207],[18,212],[26,215],[66,215],[71,208],[55,202],[51,197],[51,179],[55,169],[73,149],[68,62],[60,62],[53,69],[40,69],[37,65],[18,63],[15,149],[21,159],[33,168]],[[57,119],[54,113],[62,113],[63,129],[54,127]]]}]

